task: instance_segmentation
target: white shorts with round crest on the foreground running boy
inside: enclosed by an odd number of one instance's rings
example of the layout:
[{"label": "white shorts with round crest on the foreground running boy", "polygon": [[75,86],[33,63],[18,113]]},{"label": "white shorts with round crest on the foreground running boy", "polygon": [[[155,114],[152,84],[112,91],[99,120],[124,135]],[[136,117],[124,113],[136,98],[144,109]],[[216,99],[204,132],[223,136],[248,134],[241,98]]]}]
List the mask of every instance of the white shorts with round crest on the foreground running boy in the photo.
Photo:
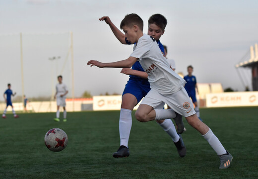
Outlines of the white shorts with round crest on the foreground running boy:
[{"label": "white shorts with round crest on the foreground running boy", "polygon": [[194,104],[185,88],[182,88],[173,94],[160,94],[155,89],[150,89],[140,104],[147,104],[153,108],[160,108],[160,106],[164,106],[165,103],[184,117],[195,114]]}]

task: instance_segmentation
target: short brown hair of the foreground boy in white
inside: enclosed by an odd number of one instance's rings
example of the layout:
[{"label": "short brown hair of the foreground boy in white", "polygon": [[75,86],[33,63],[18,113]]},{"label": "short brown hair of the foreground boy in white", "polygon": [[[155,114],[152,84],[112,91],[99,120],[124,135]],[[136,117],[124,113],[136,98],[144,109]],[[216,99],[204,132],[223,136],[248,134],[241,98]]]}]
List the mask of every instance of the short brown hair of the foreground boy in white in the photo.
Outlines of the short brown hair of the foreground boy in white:
[{"label": "short brown hair of the foreground boy in white", "polygon": [[133,26],[137,25],[141,31],[143,31],[143,20],[135,13],[127,14],[125,18],[120,23],[120,28],[123,26]]}]

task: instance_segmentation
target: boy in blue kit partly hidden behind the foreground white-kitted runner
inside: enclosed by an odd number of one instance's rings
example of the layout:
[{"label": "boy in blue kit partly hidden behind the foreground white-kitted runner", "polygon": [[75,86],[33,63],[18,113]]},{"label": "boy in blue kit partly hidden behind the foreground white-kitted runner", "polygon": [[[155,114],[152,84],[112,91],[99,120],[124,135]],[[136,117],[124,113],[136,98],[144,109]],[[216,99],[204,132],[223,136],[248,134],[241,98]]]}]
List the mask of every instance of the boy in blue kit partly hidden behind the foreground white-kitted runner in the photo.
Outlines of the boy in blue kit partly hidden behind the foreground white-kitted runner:
[{"label": "boy in blue kit partly hidden behind the foreground white-kitted runner", "polygon": [[[101,17],[99,20],[105,20],[105,22],[110,26],[114,35],[122,44],[131,44],[124,33],[122,33],[110,20],[108,16]],[[161,14],[154,14],[148,20],[148,35],[151,35],[157,42],[161,52],[164,54],[163,45],[160,42],[161,35],[164,34],[165,27],[167,25],[167,19]],[[126,84],[122,95],[122,104],[119,120],[119,132],[120,132],[120,147],[117,152],[113,154],[113,157],[128,157],[129,156],[129,135],[131,129],[131,112],[136,106],[136,104],[149,92],[150,84],[147,79],[147,74],[142,69],[140,63],[135,62],[131,69],[123,68],[121,73],[129,75],[129,81]],[[162,109],[163,106],[157,108]],[[176,116],[175,116],[176,117]],[[179,118],[179,121],[182,122],[182,116],[178,115],[176,118]],[[183,139],[180,135],[177,134],[176,128],[171,120],[160,120],[157,121],[159,125],[167,132],[167,134],[172,138],[174,144],[177,147],[180,157],[186,155],[186,148],[184,146]],[[183,123],[183,122],[182,122]],[[179,126],[182,126],[177,122]],[[181,127],[183,132],[184,126]]]}]

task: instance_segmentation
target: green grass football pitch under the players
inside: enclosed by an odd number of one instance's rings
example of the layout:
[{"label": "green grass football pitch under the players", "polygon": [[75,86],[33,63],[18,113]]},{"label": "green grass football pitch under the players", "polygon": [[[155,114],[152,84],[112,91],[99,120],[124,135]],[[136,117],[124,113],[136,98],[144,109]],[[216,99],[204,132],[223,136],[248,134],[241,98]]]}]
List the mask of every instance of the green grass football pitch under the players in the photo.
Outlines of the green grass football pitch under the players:
[{"label": "green grass football pitch under the players", "polygon": [[[133,115],[130,156],[115,159],[120,111],[68,113],[66,123],[55,122],[55,113],[21,113],[18,119],[12,114],[0,119],[0,179],[257,179],[258,107],[200,112],[233,156],[226,170],[218,169],[216,153],[185,119],[186,157],[179,157],[155,121],[140,123]],[[69,139],[65,150],[56,153],[44,144],[54,127]]]}]

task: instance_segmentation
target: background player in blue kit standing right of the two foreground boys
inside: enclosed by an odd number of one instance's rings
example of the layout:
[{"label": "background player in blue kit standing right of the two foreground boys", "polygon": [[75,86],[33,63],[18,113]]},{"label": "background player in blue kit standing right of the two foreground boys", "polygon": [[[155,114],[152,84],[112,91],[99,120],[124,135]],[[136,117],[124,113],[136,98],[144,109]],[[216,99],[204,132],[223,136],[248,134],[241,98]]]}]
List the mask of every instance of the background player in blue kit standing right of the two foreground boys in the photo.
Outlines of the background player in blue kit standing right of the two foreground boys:
[{"label": "background player in blue kit standing right of the two foreground boys", "polygon": [[198,107],[198,104],[197,104],[197,100],[196,100],[196,94],[195,94],[195,88],[198,92],[198,88],[197,88],[197,85],[196,85],[196,78],[195,76],[193,76],[193,71],[194,71],[194,67],[193,66],[188,66],[187,67],[187,72],[188,72],[188,75],[184,77],[184,80],[187,82],[186,86],[185,86],[185,89],[189,95],[189,97],[192,98],[192,101],[194,103],[194,110],[196,112],[196,115],[198,116],[198,118],[201,120],[200,118],[200,111],[199,111],[199,107]]}]

